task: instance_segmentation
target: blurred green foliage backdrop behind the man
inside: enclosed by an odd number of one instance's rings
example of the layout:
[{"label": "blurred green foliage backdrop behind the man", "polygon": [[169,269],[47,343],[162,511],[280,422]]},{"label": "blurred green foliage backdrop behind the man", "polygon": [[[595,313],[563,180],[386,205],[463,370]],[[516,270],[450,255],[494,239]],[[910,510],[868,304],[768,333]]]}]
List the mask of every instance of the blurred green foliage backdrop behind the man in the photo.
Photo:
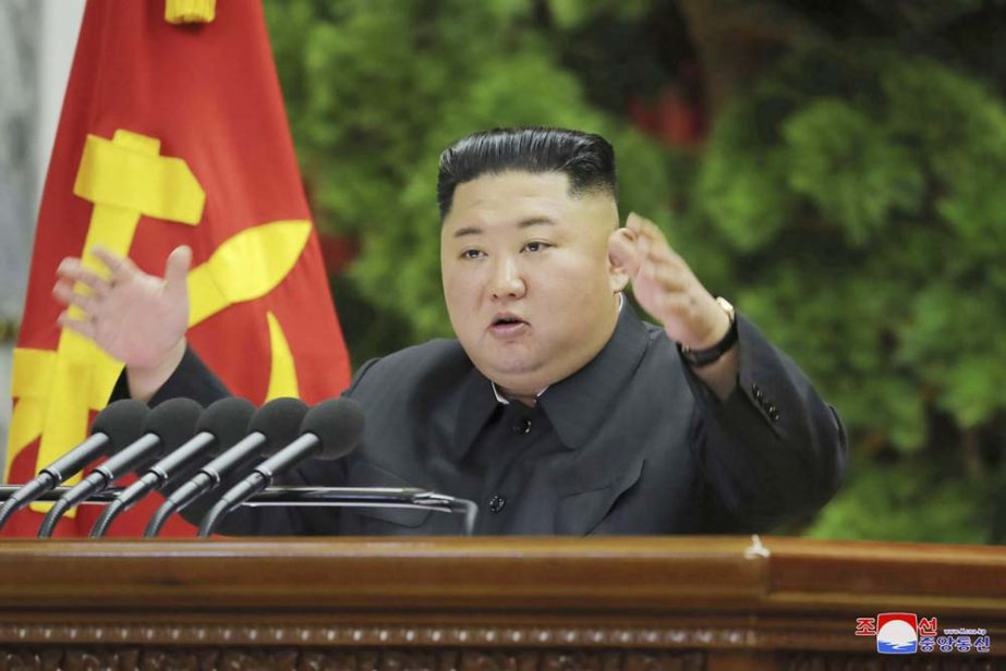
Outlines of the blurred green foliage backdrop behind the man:
[{"label": "blurred green foliage backdrop behind the man", "polygon": [[1006,2],[266,0],[359,365],[450,335],[437,157],[598,132],[622,216],[807,370],[846,487],[784,533],[1006,541]]}]

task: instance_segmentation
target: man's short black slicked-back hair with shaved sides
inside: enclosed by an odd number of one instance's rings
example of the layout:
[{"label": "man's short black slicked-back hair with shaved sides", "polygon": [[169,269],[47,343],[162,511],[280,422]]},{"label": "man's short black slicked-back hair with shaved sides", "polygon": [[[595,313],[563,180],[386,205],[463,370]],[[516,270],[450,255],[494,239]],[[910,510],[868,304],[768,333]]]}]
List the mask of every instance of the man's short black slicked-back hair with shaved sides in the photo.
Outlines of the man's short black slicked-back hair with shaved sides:
[{"label": "man's short black slicked-back hair with shaved sides", "polygon": [[440,154],[440,220],[450,212],[459,184],[508,170],[561,172],[569,178],[570,195],[601,191],[618,199],[615,149],[601,135],[563,129],[494,129],[462,137]]}]

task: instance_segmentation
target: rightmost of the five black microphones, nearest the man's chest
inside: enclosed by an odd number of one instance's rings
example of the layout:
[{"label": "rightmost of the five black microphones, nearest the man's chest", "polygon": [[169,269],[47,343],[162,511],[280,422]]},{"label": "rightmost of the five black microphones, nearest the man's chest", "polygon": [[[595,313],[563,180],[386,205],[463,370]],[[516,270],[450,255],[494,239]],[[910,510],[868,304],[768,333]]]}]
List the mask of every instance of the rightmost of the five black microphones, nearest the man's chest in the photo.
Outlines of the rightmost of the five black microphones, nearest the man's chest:
[{"label": "rightmost of the five black microphones, nearest the man's chest", "polygon": [[203,517],[198,536],[209,536],[225,514],[272,484],[278,474],[314,456],[336,460],[347,455],[363,435],[363,410],[351,399],[329,399],[304,416],[301,437],[265,460],[242,481],[229,489]]}]

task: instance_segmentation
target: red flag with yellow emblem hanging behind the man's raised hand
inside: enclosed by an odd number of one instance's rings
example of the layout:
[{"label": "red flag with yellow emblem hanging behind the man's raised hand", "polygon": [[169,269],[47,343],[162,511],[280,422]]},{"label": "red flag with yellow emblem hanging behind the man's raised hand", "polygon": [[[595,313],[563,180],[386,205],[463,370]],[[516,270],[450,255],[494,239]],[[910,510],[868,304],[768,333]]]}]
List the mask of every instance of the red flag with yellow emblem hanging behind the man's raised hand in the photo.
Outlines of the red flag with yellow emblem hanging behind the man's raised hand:
[{"label": "red flag with yellow emblem hanging behind the man's raised hand", "polygon": [[[169,13],[177,0],[169,0]],[[183,5],[186,3],[182,3]],[[187,2],[198,14],[213,2]],[[189,339],[230,389],[262,403],[337,395],[349,357],[332,308],[258,2],[173,24],[161,2],[88,2],[49,164],[14,352],[7,480],[82,441],[122,366],[56,319],[56,268],[101,244],[155,274],[193,249]],[[159,504],[122,515],[137,535]],[[86,535],[82,507],[57,535]],[[34,535],[22,511],[9,534]],[[193,533],[175,522],[166,533]]]}]

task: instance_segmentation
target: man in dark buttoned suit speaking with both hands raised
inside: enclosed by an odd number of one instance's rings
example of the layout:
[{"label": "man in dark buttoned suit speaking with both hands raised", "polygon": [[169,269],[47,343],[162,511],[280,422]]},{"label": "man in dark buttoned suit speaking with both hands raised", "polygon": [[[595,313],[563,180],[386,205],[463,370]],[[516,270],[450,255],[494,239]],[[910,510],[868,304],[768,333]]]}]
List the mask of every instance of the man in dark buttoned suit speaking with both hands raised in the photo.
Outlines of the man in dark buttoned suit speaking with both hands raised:
[{"label": "man in dark buttoned suit speaking with both hands raised", "polygon": [[[699,282],[653,223],[619,228],[615,157],[596,135],[477,133],[440,157],[440,261],[457,341],[365,364],[347,394],[357,450],[286,484],[415,486],[471,499],[480,534],[759,530],[837,489],[846,439],[797,366]],[[75,259],[61,324],[126,362],[134,398],[227,393],[184,341],[190,254],[166,278]],[[74,294],[73,282],[93,295]],[[629,283],[662,325],[625,304]],[[247,509],[226,533],[452,534],[425,511]]]}]

